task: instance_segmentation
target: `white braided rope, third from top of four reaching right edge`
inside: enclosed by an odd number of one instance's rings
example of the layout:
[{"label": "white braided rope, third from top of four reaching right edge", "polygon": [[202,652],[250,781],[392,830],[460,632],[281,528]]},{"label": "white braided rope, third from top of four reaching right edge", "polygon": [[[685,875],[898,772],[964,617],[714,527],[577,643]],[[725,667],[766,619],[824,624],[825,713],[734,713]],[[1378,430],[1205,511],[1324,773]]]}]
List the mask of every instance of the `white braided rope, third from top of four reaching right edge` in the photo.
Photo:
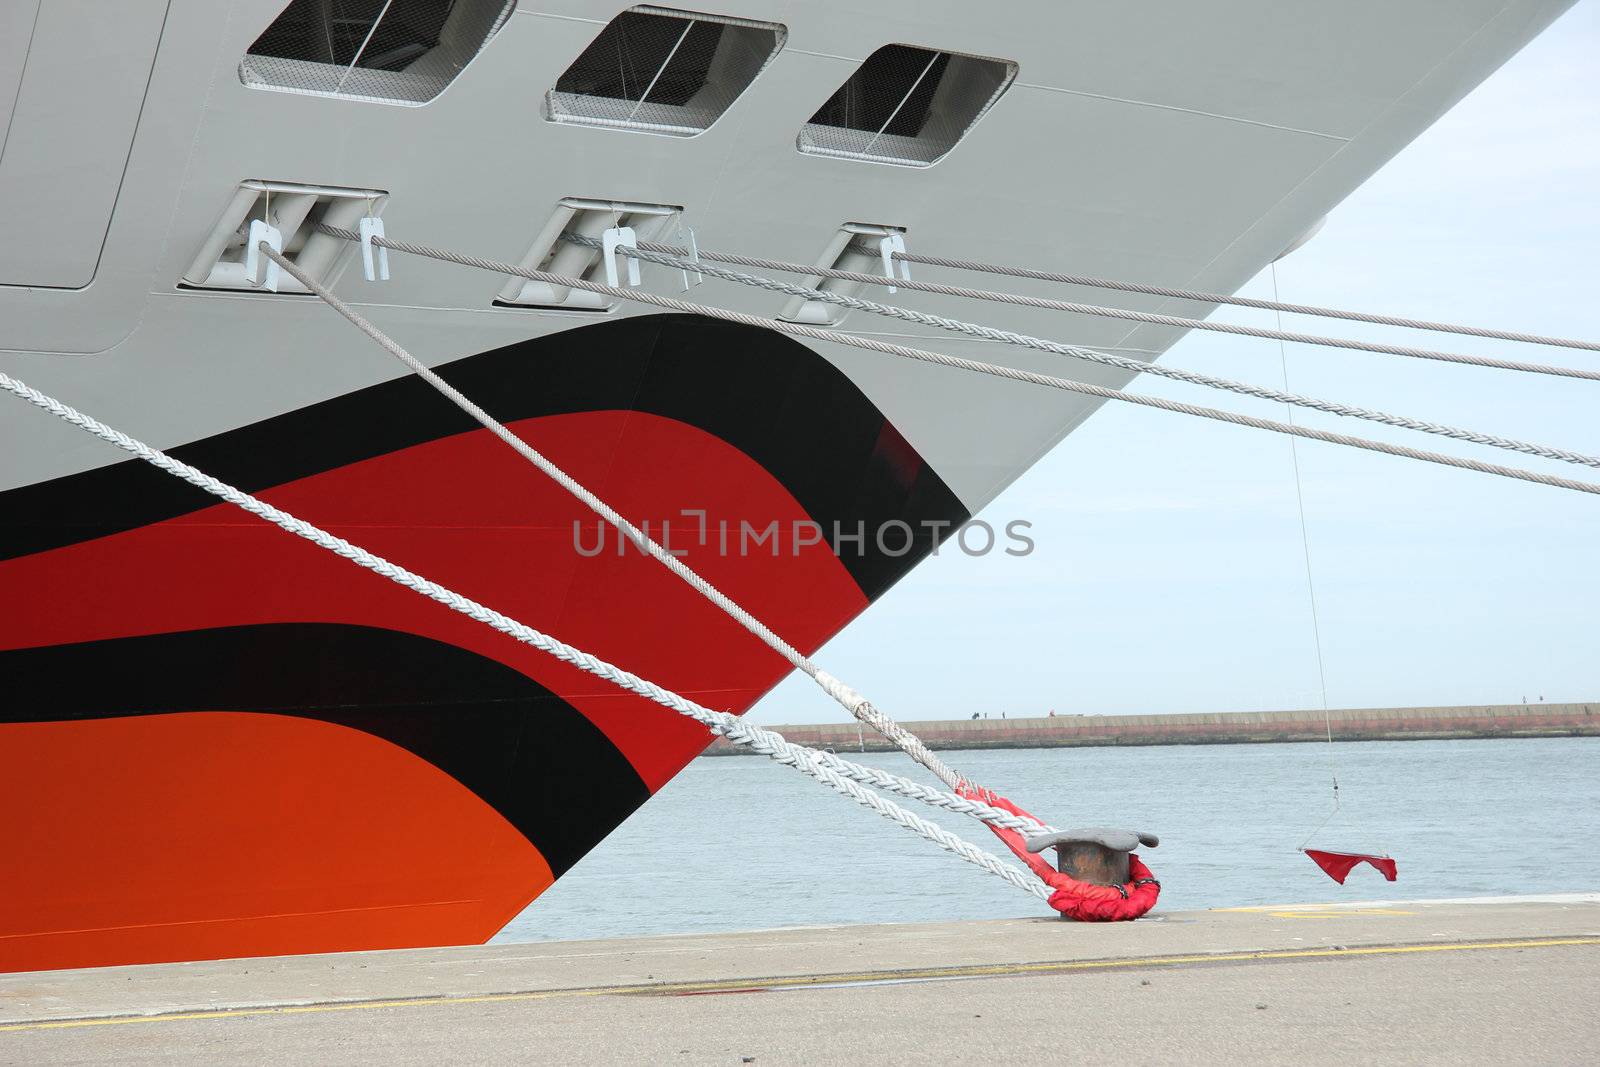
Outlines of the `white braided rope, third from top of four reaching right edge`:
[{"label": "white braided rope, third from top of four reaching right edge", "polygon": [[[573,245],[581,245],[586,248],[600,248],[600,242],[581,237],[581,235],[565,235],[563,240]],[[1101,363],[1104,366],[1115,366],[1134,374],[1155,374],[1158,378],[1170,378],[1173,381],[1187,382],[1190,386],[1203,386],[1206,389],[1221,389],[1226,392],[1240,394],[1245,397],[1258,397],[1261,400],[1272,400],[1275,403],[1294,405],[1299,408],[1310,408],[1314,411],[1326,411],[1328,414],[1339,414],[1352,419],[1363,419],[1366,422],[1379,422],[1382,426],[1394,426],[1405,430],[1418,430],[1422,434],[1435,434],[1438,437],[1448,437],[1456,442],[1470,442],[1474,445],[1486,445],[1490,448],[1501,448],[1506,451],[1522,453],[1525,456],[1541,456],[1544,459],[1558,459],[1562,462],[1581,464],[1584,467],[1600,467],[1600,456],[1589,456],[1586,453],[1574,453],[1566,448],[1557,448],[1554,445],[1538,445],[1531,442],[1520,442],[1510,437],[1499,437],[1496,434],[1483,434],[1480,430],[1466,430],[1454,426],[1445,426],[1440,422],[1427,422],[1424,419],[1413,419],[1403,414],[1389,414],[1386,411],[1374,411],[1371,408],[1360,408],[1355,405],[1339,403],[1336,400],[1320,400],[1317,397],[1304,397],[1291,392],[1280,392],[1267,386],[1251,386],[1248,382],[1238,382],[1229,378],[1214,378],[1211,374],[1202,374],[1198,371],[1189,371],[1178,366],[1170,366],[1163,363],[1150,363],[1146,360],[1134,360],[1126,355],[1114,355],[1110,352],[1099,352],[1096,349],[1085,349],[1075,344],[1061,344],[1059,341],[1045,341],[1042,338],[1030,338],[1027,334],[1013,333],[1010,330],[998,330],[995,326],[984,326],[981,323],[962,322],[958,318],[946,318],[944,315],[930,315],[928,312],[917,312],[907,307],[898,307],[894,304],[878,304],[875,301],[864,301],[854,296],[845,296],[842,293],[829,293],[827,290],[811,290],[803,285],[794,285],[792,282],[781,282],[778,278],[765,278],[755,274],[744,274],[741,270],[728,270],[725,267],[714,267],[704,262],[696,262],[693,259],[685,259],[682,256],[669,256],[666,253],[654,253],[635,248],[618,248],[624,256],[634,256],[645,262],[654,262],[664,267],[674,267],[678,270],[698,270],[699,274],[709,274],[714,278],[723,278],[725,282],[734,282],[738,285],[747,285],[758,290],[768,290],[771,293],[787,293],[790,296],[802,296],[805,299],[822,301],[827,304],[835,304],[838,307],[850,307],[854,310],[869,312],[874,315],[885,315],[888,318],[898,318],[901,322],[914,322],[923,326],[934,326],[936,330],[947,330],[950,333],[960,333],[970,338],[982,338],[986,341],[1000,341],[1003,344],[1014,344],[1024,349],[1034,349],[1038,352],[1053,352],[1056,355],[1067,355],[1077,360],[1085,360],[1088,363]],[[1278,341],[1283,344],[1283,341]]]}]

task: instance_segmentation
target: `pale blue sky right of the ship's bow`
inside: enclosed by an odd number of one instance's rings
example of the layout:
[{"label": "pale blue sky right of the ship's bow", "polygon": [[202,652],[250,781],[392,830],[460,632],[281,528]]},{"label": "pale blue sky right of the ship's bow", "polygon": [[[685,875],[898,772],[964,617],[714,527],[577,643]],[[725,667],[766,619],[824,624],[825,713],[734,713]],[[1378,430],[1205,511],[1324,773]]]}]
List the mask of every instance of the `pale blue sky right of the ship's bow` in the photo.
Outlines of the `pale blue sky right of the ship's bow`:
[{"label": "pale blue sky right of the ship's bow", "polygon": [[[1277,282],[1285,301],[1600,338],[1600,0],[1581,0],[1334,208]],[[1270,298],[1270,274],[1242,293]],[[1272,325],[1242,309],[1214,317]],[[1592,352],[1285,326],[1600,366]],[[1163,360],[1283,384],[1270,341],[1189,336]],[[1600,382],[1306,346],[1288,346],[1286,370],[1296,392],[1600,453]],[[1176,382],[1133,387],[1283,414]],[[1600,701],[1600,498],[1298,448],[1331,707]],[[928,560],[819,662],[904,720],[1322,707],[1288,438],[1109,403],[984,518],[1030,520],[1037,552]],[[790,678],[754,715],[843,712]]]}]

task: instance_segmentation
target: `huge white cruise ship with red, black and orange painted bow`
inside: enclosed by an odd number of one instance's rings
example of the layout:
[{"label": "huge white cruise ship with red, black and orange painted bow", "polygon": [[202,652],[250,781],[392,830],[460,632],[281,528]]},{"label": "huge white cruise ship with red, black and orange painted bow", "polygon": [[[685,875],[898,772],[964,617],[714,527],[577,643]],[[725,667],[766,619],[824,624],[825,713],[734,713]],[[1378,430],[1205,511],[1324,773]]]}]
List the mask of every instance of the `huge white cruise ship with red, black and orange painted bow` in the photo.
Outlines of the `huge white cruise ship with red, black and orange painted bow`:
[{"label": "huge white cruise ship with red, black and orange painted bow", "polygon": [[[370,278],[325,227],[582,282],[608,264],[570,238],[629,229],[819,269],[902,243],[1232,293],[1566,6],[8,0],[0,370],[742,712],[787,662],[304,285],[267,285],[251,226],[811,651],[1099,402],[400,253]],[[1130,378],[640,278],[685,285]],[[1181,336],[877,299],[1139,360]],[[6,971],[483,942],[710,741],[11,397],[0,605]]]}]

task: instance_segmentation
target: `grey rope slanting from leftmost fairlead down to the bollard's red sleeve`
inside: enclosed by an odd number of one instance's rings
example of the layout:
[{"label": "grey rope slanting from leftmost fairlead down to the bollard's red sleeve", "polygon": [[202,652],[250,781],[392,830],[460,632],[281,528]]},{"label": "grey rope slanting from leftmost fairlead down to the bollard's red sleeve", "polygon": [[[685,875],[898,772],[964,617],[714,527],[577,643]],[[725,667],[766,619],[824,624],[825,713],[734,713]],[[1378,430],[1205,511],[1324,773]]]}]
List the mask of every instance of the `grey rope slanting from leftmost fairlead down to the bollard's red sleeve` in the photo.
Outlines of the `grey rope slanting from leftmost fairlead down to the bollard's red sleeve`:
[{"label": "grey rope slanting from leftmost fairlead down to the bollard's red sleeve", "polygon": [[[341,235],[350,234],[350,230],[333,230],[331,227],[330,232],[336,232]],[[472,416],[483,429],[490,430],[491,434],[494,434],[494,437],[510,445],[510,448],[515,450],[518,456],[531,462],[534,467],[549,475],[557,485],[571,493],[579,502],[582,502],[584,507],[587,507],[595,515],[600,515],[608,523],[616,526],[616,530],[621,531],[624,537],[632,541],[643,552],[654,557],[656,561],[659,561],[669,571],[672,571],[685,582],[688,582],[688,585],[694,589],[698,593],[701,593],[714,605],[722,608],[723,613],[728,614],[728,617],[731,617],[734,622],[738,622],[752,635],[755,635],[763,645],[766,645],[774,653],[789,661],[790,665],[805,672],[810,678],[813,678],[818,683],[818,686],[822,688],[824,693],[838,701],[838,704],[845,710],[848,710],[851,715],[854,715],[861,721],[877,729],[880,734],[883,734],[896,745],[899,745],[901,750],[904,750],[910,758],[928,768],[949,789],[955,789],[957,785],[962,784],[962,781],[965,781],[962,779],[960,774],[950,769],[950,766],[947,766],[944,760],[936,757],[928,749],[928,745],[925,745],[922,739],[917,737],[917,734],[910,733],[909,729],[896,723],[893,718],[890,718],[877,707],[874,707],[872,702],[867,701],[864,696],[861,696],[848,685],[845,685],[843,681],[840,681],[838,678],[818,667],[814,662],[811,662],[811,659],[805,656],[798,648],[795,648],[784,638],[778,637],[778,633],[768,629],[765,622],[762,622],[754,614],[750,614],[738,603],[734,603],[731,597],[728,597],[720,589],[712,585],[709,581],[701,577],[678,557],[672,555],[670,552],[667,552],[667,549],[656,544],[646,533],[638,530],[634,523],[622,518],[622,515],[618,514],[616,509],[613,509],[610,504],[606,504],[598,496],[590,493],[582,483],[579,483],[570,474],[562,470],[558,466],[550,462],[549,458],[546,458],[531,445],[528,445],[528,442],[522,440],[520,437],[507,430],[504,426],[501,426],[493,416],[490,416],[490,413],[475,405],[466,394],[462,394],[459,389],[446,382],[443,378],[435,374],[429,366],[426,366],[421,360],[406,352],[403,347],[400,347],[398,342],[395,342],[382,330],[379,330],[366,318],[363,318],[360,312],[357,312],[354,307],[350,307],[338,296],[334,296],[325,285],[317,282],[317,278],[312,278],[309,274],[301,270],[294,264],[294,261],[275,251],[266,242],[261,243],[261,251],[262,254],[270,256],[272,261],[277,262],[280,267],[283,267],[283,270],[286,270],[296,282],[304,285],[307,290],[320,296],[330,307],[344,315],[352,325],[355,325],[357,330],[360,330],[374,342],[378,342],[379,347],[382,347],[386,352],[389,352],[397,360],[405,363],[422,381],[437,389],[442,395],[445,395],[451,403],[466,411],[469,416]]]}]

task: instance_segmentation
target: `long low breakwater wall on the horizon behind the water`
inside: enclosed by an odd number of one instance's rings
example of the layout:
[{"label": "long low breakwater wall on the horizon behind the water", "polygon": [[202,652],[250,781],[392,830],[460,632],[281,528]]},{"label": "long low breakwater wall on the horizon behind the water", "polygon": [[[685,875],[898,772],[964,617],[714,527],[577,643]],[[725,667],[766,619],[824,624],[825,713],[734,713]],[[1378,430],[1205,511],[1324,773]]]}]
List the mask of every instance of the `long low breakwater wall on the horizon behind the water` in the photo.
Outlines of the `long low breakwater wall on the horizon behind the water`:
[{"label": "long low breakwater wall on the horizon behind the water", "polygon": [[[1600,701],[1384,707],[1328,712],[1334,741],[1438,741],[1446,737],[1600,736]],[[930,749],[1066,749],[1074,745],[1264,744],[1326,741],[1322,712],[1218,712],[1200,715],[1054,715],[904,723]],[[890,752],[894,745],[859,723],[776,726],[797,744],[835,752]],[[712,742],[706,755],[750,750]]]}]

